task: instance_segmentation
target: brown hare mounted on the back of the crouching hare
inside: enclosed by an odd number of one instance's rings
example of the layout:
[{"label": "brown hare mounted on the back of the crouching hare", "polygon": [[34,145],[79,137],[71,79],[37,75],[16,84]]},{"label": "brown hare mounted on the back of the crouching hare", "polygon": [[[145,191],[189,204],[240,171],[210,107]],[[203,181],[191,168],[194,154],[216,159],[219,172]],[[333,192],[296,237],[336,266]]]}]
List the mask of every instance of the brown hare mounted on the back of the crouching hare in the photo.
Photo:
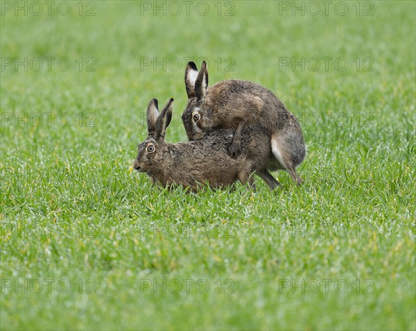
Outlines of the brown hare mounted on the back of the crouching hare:
[{"label": "brown hare mounted on the back of the crouching hare", "polygon": [[185,87],[188,104],[182,121],[189,140],[200,139],[216,128],[235,130],[229,155],[236,158],[243,151],[241,135],[245,128],[259,124],[270,139],[268,169],[284,169],[297,185],[302,183],[295,171],[306,153],[302,130],[275,94],[247,80],[223,80],[208,88],[205,61],[199,72],[194,62],[188,63]]}]

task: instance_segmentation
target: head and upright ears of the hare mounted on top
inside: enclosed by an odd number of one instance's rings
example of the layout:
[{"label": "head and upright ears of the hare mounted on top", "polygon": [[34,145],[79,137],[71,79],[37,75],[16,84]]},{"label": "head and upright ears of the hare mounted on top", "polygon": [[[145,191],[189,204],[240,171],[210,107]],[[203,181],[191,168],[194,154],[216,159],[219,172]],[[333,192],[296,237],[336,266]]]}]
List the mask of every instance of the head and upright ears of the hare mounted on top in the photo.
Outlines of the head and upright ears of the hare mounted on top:
[{"label": "head and upright ears of the hare mounted on top", "polygon": [[182,121],[187,130],[188,139],[200,139],[207,130],[214,126],[211,110],[202,108],[208,89],[208,70],[205,61],[202,62],[199,72],[194,62],[188,63],[185,70],[185,86],[188,104],[182,114]]}]

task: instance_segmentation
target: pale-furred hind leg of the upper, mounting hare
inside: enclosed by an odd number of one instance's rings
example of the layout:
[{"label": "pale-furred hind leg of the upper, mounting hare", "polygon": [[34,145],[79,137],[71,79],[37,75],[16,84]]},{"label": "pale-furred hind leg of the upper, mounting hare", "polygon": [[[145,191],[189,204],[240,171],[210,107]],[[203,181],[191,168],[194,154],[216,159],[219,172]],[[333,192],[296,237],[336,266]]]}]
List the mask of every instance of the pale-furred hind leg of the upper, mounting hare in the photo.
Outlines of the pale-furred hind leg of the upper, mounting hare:
[{"label": "pale-furred hind leg of the upper, mounting hare", "polygon": [[303,180],[300,178],[300,176],[297,175],[295,171],[296,164],[293,162],[291,155],[293,153],[293,151],[291,151],[293,146],[288,144],[288,142],[286,142],[283,137],[276,133],[272,135],[270,143],[272,145],[272,153],[275,155],[275,158],[281,165],[281,168],[288,171],[289,175],[291,175],[293,181],[297,185],[301,185]]}]

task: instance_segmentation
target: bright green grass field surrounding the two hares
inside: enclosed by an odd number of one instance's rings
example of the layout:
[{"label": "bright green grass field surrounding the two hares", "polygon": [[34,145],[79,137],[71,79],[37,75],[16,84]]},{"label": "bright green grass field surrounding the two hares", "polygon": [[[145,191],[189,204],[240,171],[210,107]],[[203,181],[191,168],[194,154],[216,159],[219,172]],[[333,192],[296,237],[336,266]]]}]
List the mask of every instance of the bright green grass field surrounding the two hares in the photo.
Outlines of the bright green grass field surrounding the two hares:
[{"label": "bright green grass field surrounding the two hares", "polygon": [[[1,329],[415,330],[415,6],[1,1]],[[132,171],[189,59],[297,116],[301,187]]]}]

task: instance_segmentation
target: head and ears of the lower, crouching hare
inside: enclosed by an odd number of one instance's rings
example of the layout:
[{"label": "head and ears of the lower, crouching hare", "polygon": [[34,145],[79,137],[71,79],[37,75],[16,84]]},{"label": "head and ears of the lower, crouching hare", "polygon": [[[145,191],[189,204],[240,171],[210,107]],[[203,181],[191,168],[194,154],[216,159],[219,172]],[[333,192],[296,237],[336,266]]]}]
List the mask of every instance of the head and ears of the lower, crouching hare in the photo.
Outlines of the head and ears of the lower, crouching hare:
[{"label": "head and ears of the lower, crouching hare", "polygon": [[139,144],[137,158],[133,167],[137,171],[157,173],[164,165],[167,144],[164,141],[166,128],[172,119],[173,99],[170,99],[159,114],[157,99],[152,99],[147,109],[148,137]]}]

